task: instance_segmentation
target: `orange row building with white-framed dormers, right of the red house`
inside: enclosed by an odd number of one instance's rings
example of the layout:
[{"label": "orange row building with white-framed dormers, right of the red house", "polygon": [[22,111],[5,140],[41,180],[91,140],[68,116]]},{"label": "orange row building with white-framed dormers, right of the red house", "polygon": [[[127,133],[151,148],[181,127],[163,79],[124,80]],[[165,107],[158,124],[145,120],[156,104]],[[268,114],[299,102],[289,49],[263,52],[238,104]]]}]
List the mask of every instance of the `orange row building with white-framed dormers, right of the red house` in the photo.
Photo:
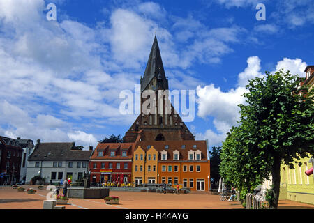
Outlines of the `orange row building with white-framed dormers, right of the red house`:
[{"label": "orange row building with white-framed dormers, right of the red house", "polygon": [[[136,160],[136,155],[133,156],[133,179],[141,178],[141,183],[167,183],[172,187],[179,184],[191,190],[209,190],[210,166],[206,141],[138,141],[135,148],[134,154],[138,153],[139,159],[142,154],[143,160]],[[156,160],[149,160],[152,159],[151,153],[158,153]],[[137,168],[145,168],[135,171],[136,165]]]}]

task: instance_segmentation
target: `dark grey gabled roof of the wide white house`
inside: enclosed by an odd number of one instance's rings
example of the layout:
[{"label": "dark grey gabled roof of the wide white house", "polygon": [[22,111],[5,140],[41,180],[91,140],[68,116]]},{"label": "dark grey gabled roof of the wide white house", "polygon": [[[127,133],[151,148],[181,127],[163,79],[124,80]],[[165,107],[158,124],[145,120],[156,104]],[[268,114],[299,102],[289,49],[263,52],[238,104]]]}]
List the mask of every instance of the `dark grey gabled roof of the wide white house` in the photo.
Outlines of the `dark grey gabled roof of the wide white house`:
[{"label": "dark grey gabled roof of the wide white house", "polygon": [[36,145],[29,161],[89,160],[92,151],[75,150],[74,142],[51,142]]}]

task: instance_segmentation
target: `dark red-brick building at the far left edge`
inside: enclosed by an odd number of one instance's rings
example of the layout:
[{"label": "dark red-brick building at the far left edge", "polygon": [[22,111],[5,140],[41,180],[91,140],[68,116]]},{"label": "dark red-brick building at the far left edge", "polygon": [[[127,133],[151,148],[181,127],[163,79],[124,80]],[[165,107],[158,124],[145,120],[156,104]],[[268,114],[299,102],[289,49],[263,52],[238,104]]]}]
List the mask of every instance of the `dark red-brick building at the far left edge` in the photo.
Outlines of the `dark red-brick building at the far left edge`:
[{"label": "dark red-brick building at the far left edge", "polygon": [[20,178],[23,149],[17,140],[0,136],[0,185],[17,183]]}]

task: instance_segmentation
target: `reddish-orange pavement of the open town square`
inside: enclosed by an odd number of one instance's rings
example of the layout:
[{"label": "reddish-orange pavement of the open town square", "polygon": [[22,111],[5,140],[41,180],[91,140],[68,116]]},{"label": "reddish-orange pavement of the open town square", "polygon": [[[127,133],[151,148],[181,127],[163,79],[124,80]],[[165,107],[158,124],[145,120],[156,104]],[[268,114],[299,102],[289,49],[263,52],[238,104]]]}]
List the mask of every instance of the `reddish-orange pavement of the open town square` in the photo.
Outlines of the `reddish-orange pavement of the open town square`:
[{"label": "reddish-orange pavement of the open town square", "polygon": [[[24,188],[29,187],[25,185]],[[0,209],[42,209],[48,191],[38,190],[37,186],[33,188],[37,190],[36,194],[0,187]],[[243,209],[238,202],[220,201],[218,195],[210,195],[209,192],[162,194],[111,191],[110,196],[118,196],[119,205],[105,204],[103,199],[69,199],[66,209]],[[278,208],[314,209],[314,206],[297,201],[280,201]]]}]

